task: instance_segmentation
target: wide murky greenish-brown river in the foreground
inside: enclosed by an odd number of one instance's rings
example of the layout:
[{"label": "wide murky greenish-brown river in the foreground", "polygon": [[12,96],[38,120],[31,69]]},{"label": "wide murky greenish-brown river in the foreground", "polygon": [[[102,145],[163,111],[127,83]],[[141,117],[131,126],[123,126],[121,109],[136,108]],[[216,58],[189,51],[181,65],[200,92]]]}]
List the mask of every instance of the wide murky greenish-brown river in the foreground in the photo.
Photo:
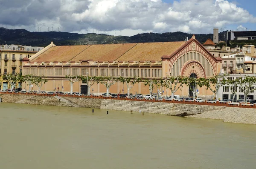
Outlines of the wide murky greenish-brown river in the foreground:
[{"label": "wide murky greenish-brown river in the foreground", "polygon": [[254,169],[256,125],[0,103],[2,169]]}]

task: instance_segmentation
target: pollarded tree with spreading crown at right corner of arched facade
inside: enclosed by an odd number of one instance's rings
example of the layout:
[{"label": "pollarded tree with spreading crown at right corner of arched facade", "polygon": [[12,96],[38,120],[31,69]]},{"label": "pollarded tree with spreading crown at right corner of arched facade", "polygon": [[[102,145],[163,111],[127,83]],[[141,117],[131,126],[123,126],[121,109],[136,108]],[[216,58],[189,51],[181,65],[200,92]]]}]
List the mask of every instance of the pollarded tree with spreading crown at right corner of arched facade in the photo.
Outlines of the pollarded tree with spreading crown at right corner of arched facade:
[{"label": "pollarded tree with spreading crown at right corner of arched facade", "polygon": [[[218,100],[218,91],[220,87],[225,84],[224,83],[225,81],[221,80],[225,76],[226,75],[223,74],[223,75],[216,75],[209,78],[200,78],[202,85],[206,86],[207,89],[210,89],[215,94],[216,100]],[[213,85],[213,87],[211,85]]]}]

